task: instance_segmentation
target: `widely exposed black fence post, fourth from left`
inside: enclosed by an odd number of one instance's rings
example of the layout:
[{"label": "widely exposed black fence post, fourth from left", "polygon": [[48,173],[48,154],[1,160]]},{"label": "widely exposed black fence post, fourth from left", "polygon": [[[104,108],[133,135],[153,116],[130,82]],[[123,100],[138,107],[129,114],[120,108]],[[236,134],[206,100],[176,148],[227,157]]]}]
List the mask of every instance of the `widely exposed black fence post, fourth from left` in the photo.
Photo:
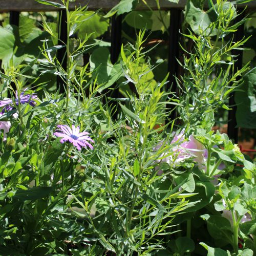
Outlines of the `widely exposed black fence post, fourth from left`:
[{"label": "widely exposed black fence post, fourth from left", "polygon": [[[178,87],[175,80],[175,76],[179,73],[179,42],[180,42],[180,33],[181,29],[181,15],[182,10],[172,8],[170,9],[170,25],[169,25],[169,50],[168,50],[168,72],[169,72],[169,89],[172,92],[178,93]],[[170,116],[170,120],[176,118],[176,113],[173,111]]]}]

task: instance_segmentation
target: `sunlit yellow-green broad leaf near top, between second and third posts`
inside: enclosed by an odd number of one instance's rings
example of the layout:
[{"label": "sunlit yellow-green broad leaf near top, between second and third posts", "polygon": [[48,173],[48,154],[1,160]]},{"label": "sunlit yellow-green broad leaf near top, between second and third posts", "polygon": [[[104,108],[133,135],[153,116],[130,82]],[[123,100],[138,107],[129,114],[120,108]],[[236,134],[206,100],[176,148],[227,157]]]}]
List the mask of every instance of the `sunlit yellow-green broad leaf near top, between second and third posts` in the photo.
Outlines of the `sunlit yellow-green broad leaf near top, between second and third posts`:
[{"label": "sunlit yellow-green broad leaf near top, between second and third posts", "polygon": [[[81,25],[79,25],[77,32],[78,36],[81,39],[86,38],[86,34],[91,34],[91,39],[97,38],[103,35],[109,28],[109,19],[104,18],[101,13],[94,14],[92,11],[86,11],[83,15],[81,15],[78,21],[84,20]],[[91,16],[91,17],[90,17]],[[88,18],[88,19],[87,19]]]}]

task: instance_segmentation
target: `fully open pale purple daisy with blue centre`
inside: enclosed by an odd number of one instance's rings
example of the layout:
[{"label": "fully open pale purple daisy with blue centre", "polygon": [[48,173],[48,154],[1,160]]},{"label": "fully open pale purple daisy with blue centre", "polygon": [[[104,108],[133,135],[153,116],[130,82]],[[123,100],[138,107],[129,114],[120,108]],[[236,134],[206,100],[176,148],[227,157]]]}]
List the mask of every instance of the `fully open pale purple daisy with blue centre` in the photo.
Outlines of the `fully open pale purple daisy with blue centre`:
[{"label": "fully open pale purple daisy with blue centre", "polygon": [[88,132],[82,132],[80,133],[80,127],[77,126],[75,127],[75,125],[72,125],[72,130],[70,129],[70,127],[68,125],[57,125],[57,127],[59,127],[60,129],[57,129],[56,131],[60,131],[60,132],[56,132],[54,133],[54,135],[56,137],[62,137],[62,139],[60,140],[60,143],[64,143],[65,141],[69,141],[70,143],[72,143],[79,151],[81,150],[82,146],[89,146],[90,148],[93,149],[92,144],[90,144],[88,141],[91,141],[94,143],[94,141],[87,136],[89,133]]}]

